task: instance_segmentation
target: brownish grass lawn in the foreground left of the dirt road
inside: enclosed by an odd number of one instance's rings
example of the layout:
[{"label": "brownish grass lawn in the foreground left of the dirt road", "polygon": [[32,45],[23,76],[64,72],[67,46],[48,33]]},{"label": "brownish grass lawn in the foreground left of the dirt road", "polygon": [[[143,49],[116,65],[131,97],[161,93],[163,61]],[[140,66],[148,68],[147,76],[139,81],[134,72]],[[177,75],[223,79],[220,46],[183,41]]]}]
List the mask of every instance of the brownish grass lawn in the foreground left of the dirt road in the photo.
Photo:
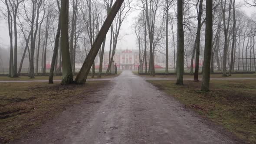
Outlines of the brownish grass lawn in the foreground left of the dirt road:
[{"label": "brownish grass lawn in the foreground left of the dirt road", "polygon": [[0,83],[0,143],[13,141],[97,91],[108,81],[85,85]]}]

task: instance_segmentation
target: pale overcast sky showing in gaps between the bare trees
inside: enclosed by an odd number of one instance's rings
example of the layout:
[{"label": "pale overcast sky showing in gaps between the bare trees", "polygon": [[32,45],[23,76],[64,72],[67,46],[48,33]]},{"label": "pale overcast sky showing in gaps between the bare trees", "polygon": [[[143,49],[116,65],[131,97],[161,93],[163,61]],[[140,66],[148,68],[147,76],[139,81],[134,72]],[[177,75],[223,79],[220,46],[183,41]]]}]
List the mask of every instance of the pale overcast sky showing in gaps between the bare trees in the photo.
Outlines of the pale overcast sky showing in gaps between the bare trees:
[{"label": "pale overcast sky showing in gaps between the bare trees", "polygon": [[[134,0],[135,2],[136,0]],[[243,0],[236,0],[236,3],[243,2]],[[133,4],[132,4],[133,6]],[[244,10],[249,16],[251,13],[256,12],[256,8],[254,7],[245,7],[243,6],[241,8]],[[132,28],[132,24],[134,23],[134,19],[137,16],[139,11],[132,10],[131,14],[127,17],[127,20],[124,21],[122,27],[121,27],[121,33],[120,36],[123,37],[121,41],[118,42],[117,49],[138,49],[137,44],[136,44],[136,36],[134,33],[134,30]],[[7,48],[9,47],[10,39],[9,39],[9,34],[8,34],[8,25],[7,21],[1,19],[0,20],[0,47]],[[108,49],[108,45],[106,47]]]}]

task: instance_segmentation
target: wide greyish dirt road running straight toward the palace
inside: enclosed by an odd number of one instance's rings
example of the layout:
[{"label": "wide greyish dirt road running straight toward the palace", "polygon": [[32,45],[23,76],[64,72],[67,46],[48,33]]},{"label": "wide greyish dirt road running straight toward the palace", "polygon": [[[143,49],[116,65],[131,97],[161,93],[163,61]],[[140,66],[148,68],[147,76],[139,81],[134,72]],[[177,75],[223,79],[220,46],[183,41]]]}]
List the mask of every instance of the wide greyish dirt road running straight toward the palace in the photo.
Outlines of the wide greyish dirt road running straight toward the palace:
[{"label": "wide greyish dirt road running straight toward the palace", "polygon": [[[225,134],[224,134],[225,133]],[[24,144],[233,144],[231,136],[187,111],[130,71],[81,105],[44,124]],[[237,142],[238,143],[238,142]]]}]

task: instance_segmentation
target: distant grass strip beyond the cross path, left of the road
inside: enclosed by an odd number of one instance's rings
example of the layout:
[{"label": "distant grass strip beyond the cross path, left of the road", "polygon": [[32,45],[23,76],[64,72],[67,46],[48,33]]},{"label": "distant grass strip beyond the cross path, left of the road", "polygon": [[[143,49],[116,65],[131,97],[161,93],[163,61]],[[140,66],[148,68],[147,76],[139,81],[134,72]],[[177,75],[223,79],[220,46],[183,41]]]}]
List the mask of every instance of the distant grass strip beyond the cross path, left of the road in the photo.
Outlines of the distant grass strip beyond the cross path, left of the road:
[{"label": "distant grass strip beyond the cross path, left of the road", "polygon": [[[98,78],[97,75],[92,78],[90,75],[87,79],[107,79],[107,78],[113,78],[121,74],[121,71],[118,71],[117,75],[102,75],[101,78]],[[20,76],[18,78],[10,78],[7,76],[0,76],[0,81],[36,81],[36,80],[48,80],[49,76],[35,76],[35,79],[30,79],[28,76]],[[61,80],[62,76],[54,76],[53,80]],[[74,76],[75,79],[75,76]]]}]

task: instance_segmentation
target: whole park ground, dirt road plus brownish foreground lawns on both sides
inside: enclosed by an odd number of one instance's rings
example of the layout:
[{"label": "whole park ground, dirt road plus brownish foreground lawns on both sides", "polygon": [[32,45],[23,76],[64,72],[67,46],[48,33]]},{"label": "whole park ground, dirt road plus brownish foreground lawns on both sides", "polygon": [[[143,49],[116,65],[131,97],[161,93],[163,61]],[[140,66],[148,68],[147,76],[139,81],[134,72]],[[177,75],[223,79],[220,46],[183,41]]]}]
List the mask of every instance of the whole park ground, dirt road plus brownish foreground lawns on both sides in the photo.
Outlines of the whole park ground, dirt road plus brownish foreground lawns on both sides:
[{"label": "whole park ground, dirt road plus brownish foreground lawns on both sides", "polygon": [[206,93],[200,82],[147,79],[124,71],[85,85],[0,83],[0,143],[256,142],[255,80],[212,80]]}]

